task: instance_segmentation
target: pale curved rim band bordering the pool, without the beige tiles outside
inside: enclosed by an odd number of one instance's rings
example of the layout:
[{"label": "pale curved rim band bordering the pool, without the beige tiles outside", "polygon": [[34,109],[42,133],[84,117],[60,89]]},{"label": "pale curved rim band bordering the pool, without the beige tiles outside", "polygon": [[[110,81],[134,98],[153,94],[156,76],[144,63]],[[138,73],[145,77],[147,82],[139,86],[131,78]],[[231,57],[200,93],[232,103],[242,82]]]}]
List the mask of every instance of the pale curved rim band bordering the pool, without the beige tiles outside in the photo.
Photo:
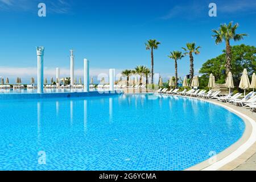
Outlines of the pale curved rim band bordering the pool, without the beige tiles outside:
[{"label": "pale curved rim band bordering the pool, without the beige tiles outside", "polygon": [[[194,166],[191,166],[187,169],[184,169],[185,171],[216,171],[222,167],[224,167],[226,164],[229,164],[236,160],[239,156],[243,155],[253,144],[255,143],[256,139],[256,123],[253,118],[248,117],[247,115],[241,113],[237,109],[233,109],[229,105],[225,105],[222,102],[217,102],[214,100],[205,100],[203,98],[197,98],[197,97],[189,97],[189,96],[179,96],[179,95],[170,95],[170,96],[177,96],[177,97],[185,97],[185,98],[192,98],[195,100],[205,101],[209,102],[214,105],[218,105],[223,107],[226,110],[229,110],[230,112],[236,114],[238,117],[242,119],[242,121],[245,123],[245,131],[243,132],[243,135],[240,139],[237,140],[237,142],[233,143],[231,146],[226,148],[224,151],[221,151],[215,156],[212,156],[211,158],[204,160],[201,163],[195,164]],[[209,163],[210,161],[216,159],[216,162]],[[237,165],[234,165],[233,168],[236,168],[241,164],[240,162],[237,162]]]}]

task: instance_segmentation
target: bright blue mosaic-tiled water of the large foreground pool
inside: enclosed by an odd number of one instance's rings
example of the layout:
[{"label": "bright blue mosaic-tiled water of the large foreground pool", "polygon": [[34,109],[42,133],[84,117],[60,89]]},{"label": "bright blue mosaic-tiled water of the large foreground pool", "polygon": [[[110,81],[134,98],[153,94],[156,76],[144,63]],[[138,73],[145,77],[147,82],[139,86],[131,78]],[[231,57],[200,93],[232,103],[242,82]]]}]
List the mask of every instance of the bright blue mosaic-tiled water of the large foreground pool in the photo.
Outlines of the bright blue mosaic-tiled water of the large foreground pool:
[{"label": "bright blue mosaic-tiled water of the large foreground pool", "polygon": [[0,115],[0,170],[182,170],[245,130],[220,106],[152,94],[2,100]]}]

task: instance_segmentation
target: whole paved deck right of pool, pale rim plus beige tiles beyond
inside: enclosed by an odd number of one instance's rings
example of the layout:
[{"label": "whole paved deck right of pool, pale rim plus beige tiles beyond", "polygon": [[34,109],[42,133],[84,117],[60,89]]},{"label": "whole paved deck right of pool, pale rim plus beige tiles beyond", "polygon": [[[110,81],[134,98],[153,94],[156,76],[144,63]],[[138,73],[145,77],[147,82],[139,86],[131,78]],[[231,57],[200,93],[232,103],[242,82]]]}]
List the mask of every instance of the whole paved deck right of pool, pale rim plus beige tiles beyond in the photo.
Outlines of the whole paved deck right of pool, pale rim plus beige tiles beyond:
[{"label": "whole paved deck right of pool, pale rim plus beige tiles beyond", "polygon": [[[179,96],[179,95],[175,94],[174,96]],[[239,117],[241,117],[246,125],[245,132],[243,133],[242,137],[236,143],[232,144],[232,146],[226,148],[226,150],[220,152],[215,156],[216,163],[210,163],[210,159],[211,159],[210,158],[186,170],[192,170],[192,171],[194,170],[206,170],[206,171],[208,170],[220,170],[220,171],[252,170],[252,171],[255,171],[256,170],[256,162],[255,162],[256,161],[256,138],[255,138],[256,113],[250,111],[248,107],[240,107],[240,106],[228,104],[225,102],[220,102],[217,100],[212,100],[212,99],[209,100],[209,99],[189,97],[189,96],[179,96],[179,97],[187,97],[187,98],[207,101],[207,102],[211,102],[213,104],[225,107],[225,109],[228,109],[233,113],[237,114]],[[245,150],[245,146],[249,145],[249,140],[250,140],[250,147],[246,148]],[[239,151],[241,152],[242,150],[245,150],[245,151],[242,152],[242,154],[238,155]],[[234,158],[236,155],[237,157]],[[231,160],[232,157],[234,158],[233,160]],[[230,162],[228,162],[229,160]],[[217,163],[220,163],[220,164],[217,164]],[[225,164],[221,165],[221,163],[222,164],[225,163]]]}]

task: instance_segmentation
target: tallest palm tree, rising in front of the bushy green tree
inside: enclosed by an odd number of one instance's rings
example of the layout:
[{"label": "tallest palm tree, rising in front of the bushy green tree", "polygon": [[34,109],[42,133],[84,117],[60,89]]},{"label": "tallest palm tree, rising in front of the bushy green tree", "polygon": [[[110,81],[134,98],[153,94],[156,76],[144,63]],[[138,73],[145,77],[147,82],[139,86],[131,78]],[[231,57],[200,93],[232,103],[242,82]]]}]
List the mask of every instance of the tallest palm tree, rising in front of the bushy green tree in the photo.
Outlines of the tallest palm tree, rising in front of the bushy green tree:
[{"label": "tallest palm tree, rising in front of the bushy green tree", "polygon": [[215,35],[212,35],[213,38],[215,38],[215,43],[220,44],[225,41],[226,43],[226,74],[228,74],[230,71],[232,71],[232,52],[230,47],[230,40],[241,40],[243,39],[243,36],[247,36],[247,34],[236,34],[236,30],[238,27],[238,23],[234,24],[233,22],[230,22],[228,25],[221,24],[220,28],[218,30],[212,30]]}]

